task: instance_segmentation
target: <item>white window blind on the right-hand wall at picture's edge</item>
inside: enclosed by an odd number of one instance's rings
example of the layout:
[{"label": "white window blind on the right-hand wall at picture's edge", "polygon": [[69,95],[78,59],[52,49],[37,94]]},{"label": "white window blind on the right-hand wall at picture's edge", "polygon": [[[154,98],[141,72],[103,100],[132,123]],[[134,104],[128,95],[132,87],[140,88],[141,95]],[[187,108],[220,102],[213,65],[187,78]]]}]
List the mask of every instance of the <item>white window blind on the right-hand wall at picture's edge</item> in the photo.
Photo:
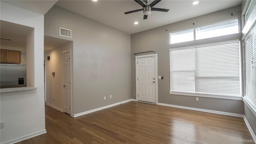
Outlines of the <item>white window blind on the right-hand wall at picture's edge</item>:
[{"label": "white window blind on the right-hand wall at picture's edge", "polygon": [[245,98],[256,108],[256,24],[245,40]]}]

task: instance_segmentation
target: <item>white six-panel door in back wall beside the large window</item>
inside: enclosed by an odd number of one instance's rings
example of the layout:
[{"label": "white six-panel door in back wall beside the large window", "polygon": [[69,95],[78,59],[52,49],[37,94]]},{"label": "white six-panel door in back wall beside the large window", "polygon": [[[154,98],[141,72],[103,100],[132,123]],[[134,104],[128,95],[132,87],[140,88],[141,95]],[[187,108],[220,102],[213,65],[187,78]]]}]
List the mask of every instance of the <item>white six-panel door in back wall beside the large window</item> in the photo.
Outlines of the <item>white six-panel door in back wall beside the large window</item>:
[{"label": "white six-panel door in back wall beside the large window", "polygon": [[138,58],[138,100],[156,103],[155,56]]}]

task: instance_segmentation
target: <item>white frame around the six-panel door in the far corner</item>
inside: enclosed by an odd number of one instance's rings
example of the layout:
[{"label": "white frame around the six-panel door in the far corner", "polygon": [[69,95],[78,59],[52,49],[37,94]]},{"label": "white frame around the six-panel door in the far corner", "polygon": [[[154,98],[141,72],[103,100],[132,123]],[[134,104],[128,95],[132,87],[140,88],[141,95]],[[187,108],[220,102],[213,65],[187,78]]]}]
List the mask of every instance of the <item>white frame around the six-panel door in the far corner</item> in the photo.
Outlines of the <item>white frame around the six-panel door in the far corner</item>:
[{"label": "white frame around the six-panel door in the far corner", "polygon": [[158,104],[158,73],[157,73],[157,54],[148,54],[143,56],[135,56],[136,61],[136,101],[138,101],[138,58],[155,57],[155,74],[156,74],[156,104]]}]

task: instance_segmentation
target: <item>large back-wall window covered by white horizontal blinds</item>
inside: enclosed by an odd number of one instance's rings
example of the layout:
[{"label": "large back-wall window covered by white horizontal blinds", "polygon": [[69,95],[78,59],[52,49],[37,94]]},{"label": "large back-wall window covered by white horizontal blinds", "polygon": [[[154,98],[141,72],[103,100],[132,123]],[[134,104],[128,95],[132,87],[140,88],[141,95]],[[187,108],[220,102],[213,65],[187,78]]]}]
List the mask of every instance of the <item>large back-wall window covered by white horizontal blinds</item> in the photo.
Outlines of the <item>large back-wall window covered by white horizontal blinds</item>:
[{"label": "large back-wall window covered by white horizontal blinds", "polygon": [[170,91],[241,96],[240,41],[170,49]]}]

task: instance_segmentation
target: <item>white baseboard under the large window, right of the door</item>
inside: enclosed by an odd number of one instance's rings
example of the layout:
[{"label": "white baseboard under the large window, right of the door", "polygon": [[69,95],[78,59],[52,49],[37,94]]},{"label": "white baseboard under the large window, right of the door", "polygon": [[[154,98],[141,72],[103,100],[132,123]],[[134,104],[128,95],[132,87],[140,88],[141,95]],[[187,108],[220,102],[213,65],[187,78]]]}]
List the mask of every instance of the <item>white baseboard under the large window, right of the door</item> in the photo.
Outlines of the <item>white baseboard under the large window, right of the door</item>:
[{"label": "white baseboard under the large window, right of the door", "polygon": [[164,103],[158,103],[158,105],[170,106],[170,107],[174,107],[174,108],[183,108],[183,109],[187,109],[187,110],[196,110],[196,111],[200,111],[200,112],[209,112],[209,113],[214,113],[214,114],[223,114],[223,115],[227,115],[227,116],[236,116],[236,117],[240,117],[240,118],[244,117],[243,114],[220,112],[220,111],[216,111],[216,110],[206,110],[206,109],[202,109],[202,108],[192,108],[192,107],[187,107],[187,106],[177,106],[177,105],[173,105],[173,104],[164,104]]}]

